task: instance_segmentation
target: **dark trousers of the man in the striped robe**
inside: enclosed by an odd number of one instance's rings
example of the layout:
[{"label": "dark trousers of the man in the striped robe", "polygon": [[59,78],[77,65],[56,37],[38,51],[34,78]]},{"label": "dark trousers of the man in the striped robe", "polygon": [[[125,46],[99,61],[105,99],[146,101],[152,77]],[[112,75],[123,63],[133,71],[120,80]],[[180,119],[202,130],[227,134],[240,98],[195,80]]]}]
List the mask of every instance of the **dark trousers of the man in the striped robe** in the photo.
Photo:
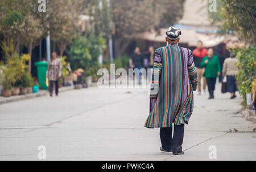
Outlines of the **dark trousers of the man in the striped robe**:
[{"label": "dark trousers of the man in the striped robe", "polygon": [[185,125],[174,125],[174,136],[172,137],[172,127],[160,128],[160,139],[162,148],[166,151],[178,153],[182,151]]}]

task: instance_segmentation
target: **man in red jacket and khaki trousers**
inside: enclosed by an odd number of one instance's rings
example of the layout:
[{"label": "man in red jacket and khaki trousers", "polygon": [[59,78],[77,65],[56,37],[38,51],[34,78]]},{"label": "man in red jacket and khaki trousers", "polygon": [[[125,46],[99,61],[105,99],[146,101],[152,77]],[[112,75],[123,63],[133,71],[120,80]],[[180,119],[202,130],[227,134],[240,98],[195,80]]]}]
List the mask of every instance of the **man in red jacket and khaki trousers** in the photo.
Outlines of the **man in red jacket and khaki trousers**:
[{"label": "man in red jacket and khaki trousers", "polygon": [[196,66],[196,71],[197,71],[197,77],[198,77],[198,86],[197,86],[197,90],[199,92],[199,94],[201,94],[201,78],[203,78],[203,89],[205,92],[206,89],[206,85],[207,85],[207,81],[206,79],[203,77],[204,75],[204,68],[201,67],[201,62],[203,60],[203,58],[205,56],[207,56],[208,50],[204,48],[203,42],[202,41],[198,41],[197,42],[197,48],[195,50],[193,50],[193,60]]}]

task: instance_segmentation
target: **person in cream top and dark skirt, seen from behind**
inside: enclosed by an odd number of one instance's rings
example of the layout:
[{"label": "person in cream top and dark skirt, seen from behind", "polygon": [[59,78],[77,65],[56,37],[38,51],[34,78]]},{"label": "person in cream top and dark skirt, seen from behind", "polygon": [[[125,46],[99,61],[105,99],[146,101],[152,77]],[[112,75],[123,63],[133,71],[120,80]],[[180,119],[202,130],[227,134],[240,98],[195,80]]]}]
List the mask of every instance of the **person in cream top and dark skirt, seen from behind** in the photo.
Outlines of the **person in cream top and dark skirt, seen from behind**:
[{"label": "person in cream top and dark skirt, seen from behind", "polygon": [[231,94],[230,99],[236,98],[237,84],[236,84],[236,73],[238,71],[238,67],[236,67],[236,63],[238,60],[236,57],[231,54],[229,58],[225,59],[222,75],[226,76],[226,91]]}]

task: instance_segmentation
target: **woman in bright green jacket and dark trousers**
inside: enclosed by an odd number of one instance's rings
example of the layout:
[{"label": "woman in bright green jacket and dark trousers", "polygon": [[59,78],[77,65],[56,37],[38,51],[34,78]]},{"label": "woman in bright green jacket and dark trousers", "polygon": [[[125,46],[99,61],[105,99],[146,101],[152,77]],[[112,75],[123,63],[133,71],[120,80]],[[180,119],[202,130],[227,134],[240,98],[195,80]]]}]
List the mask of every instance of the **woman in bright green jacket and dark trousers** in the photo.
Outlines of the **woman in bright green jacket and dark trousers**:
[{"label": "woman in bright green jacket and dark trousers", "polygon": [[209,99],[214,98],[214,90],[217,77],[221,75],[220,60],[213,54],[213,49],[208,50],[208,55],[203,58],[201,67],[205,67],[205,78],[207,79]]}]

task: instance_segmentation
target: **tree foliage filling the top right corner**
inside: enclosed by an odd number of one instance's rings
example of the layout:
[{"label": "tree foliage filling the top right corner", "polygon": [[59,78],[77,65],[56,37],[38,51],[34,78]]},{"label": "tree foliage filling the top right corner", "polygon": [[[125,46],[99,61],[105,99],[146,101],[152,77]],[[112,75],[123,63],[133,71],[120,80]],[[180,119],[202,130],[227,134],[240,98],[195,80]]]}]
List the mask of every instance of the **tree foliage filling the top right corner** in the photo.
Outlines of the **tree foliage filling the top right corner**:
[{"label": "tree foliage filling the top right corner", "polygon": [[239,38],[256,45],[256,2],[254,0],[218,0],[218,12],[210,13],[220,33],[232,31]]}]

